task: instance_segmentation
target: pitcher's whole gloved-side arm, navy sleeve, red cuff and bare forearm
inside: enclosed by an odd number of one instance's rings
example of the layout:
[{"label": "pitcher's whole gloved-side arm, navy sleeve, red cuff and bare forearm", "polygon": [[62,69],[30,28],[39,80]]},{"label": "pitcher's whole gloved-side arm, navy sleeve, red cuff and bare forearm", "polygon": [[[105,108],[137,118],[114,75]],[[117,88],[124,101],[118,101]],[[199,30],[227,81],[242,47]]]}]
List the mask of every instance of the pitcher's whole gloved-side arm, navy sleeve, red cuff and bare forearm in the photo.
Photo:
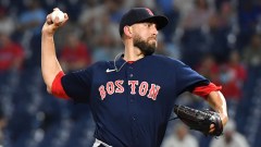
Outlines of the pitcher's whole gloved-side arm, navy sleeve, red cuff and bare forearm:
[{"label": "pitcher's whole gloved-side arm, navy sleeve, red cuff and bare forearm", "polygon": [[215,86],[209,79],[199,75],[196,71],[191,70],[188,65],[181,61],[175,61],[177,94],[188,90],[197,96],[204,98],[209,105],[220,114],[223,126],[227,123],[227,108],[223,94],[220,91],[221,86]]}]

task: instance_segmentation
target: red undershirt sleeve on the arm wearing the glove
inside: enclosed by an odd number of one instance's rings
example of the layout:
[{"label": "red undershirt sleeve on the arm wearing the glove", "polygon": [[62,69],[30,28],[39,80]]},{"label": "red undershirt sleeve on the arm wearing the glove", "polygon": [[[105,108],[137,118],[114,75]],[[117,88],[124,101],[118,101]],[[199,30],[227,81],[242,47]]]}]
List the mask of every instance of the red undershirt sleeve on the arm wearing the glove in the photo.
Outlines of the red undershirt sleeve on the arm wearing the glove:
[{"label": "red undershirt sleeve on the arm wearing the glove", "polygon": [[195,89],[192,90],[192,94],[207,99],[208,95],[211,91],[216,91],[221,89],[222,89],[222,86],[215,86],[213,83],[210,83],[209,85],[195,87]]}]

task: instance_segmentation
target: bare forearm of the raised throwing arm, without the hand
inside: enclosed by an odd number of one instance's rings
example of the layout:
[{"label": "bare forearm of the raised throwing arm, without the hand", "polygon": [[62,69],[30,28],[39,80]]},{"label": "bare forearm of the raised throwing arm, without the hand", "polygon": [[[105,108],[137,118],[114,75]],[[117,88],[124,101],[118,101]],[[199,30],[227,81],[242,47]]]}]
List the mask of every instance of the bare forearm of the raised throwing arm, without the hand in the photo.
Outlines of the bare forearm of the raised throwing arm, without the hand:
[{"label": "bare forearm of the raised throwing arm, without the hand", "polygon": [[47,90],[51,93],[52,82],[55,75],[62,71],[57,59],[53,36],[42,33],[41,35],[41,72]]}]

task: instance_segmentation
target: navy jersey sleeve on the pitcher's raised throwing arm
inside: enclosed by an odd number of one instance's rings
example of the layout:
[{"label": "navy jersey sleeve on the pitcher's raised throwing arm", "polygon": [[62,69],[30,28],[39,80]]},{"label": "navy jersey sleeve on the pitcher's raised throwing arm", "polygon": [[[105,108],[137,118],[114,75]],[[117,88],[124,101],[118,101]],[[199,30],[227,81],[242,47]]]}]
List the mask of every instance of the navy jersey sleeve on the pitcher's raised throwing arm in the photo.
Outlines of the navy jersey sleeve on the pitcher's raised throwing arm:
[{"label": "navy jersey sleeve on the pitcher's raised throwing arm", "polygon": [[91,88],[90,69],[69,73],[61,78],[66,95],[75,102],[88,102]]}]

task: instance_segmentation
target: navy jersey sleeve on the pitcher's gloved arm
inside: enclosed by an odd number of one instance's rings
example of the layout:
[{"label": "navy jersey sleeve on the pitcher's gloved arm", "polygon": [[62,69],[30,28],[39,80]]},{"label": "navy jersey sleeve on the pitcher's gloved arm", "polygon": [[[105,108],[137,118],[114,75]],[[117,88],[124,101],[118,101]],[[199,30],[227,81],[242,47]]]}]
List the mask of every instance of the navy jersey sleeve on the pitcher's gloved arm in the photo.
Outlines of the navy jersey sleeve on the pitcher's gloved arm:
[{"label": "navy jersey sleeve on the pitcher's gloved arm", "polygon": [[192,91],[198,85],[209,85],[210,81],[198,74],[185,63],[177,61],[176,64],[176,87],[177,94]]}]

